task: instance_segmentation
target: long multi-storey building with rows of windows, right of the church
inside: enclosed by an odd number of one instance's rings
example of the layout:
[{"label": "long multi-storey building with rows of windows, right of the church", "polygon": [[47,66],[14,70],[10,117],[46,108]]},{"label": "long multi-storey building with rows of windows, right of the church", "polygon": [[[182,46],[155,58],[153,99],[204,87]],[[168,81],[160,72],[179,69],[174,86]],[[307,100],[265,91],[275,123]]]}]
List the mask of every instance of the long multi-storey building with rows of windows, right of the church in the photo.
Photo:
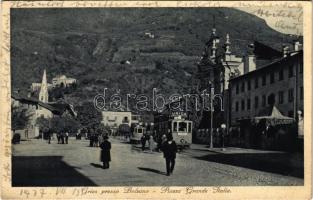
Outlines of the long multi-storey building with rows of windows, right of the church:
[{"label": "long multi-storey building with rows of windows, right of the church", "polygon": [[283,115],[296,119],[298,111],[303,113],[303,52],[299,49],[285,52],[263,67],[253,67],[231,78],[229,85],[232,127],[238,126],[239,120],[260,116],[273,106]]}]

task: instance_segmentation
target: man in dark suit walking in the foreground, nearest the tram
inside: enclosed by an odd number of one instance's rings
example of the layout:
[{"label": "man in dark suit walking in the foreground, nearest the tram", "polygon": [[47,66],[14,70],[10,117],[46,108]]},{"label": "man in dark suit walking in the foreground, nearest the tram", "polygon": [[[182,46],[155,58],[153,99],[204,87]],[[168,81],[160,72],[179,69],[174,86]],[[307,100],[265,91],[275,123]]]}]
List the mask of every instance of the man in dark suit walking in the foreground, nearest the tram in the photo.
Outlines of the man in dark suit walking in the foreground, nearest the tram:
[{"label": "man in dark suit walking in the foreground, nearest the tram", "polygon": [[169,176],[174,171],[177,152],[177,145],[171,134],[167,136],[167,141],[163,144],[162,151],[166,161],[166,175]]}]

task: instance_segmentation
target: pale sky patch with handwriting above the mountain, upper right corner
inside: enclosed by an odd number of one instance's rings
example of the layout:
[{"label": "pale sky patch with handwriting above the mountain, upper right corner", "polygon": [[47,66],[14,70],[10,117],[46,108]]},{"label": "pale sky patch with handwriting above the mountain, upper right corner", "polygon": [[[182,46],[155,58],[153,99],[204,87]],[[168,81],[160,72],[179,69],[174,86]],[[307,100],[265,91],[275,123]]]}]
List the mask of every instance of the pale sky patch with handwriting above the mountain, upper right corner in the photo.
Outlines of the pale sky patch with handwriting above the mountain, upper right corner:
[{"label": "pale sky patch with handwriting above the mountain, upper right corner", "polygon": [[303,9],[286,7],[237,8],[263,18],[268,26],[286,34],[303,34]]}]

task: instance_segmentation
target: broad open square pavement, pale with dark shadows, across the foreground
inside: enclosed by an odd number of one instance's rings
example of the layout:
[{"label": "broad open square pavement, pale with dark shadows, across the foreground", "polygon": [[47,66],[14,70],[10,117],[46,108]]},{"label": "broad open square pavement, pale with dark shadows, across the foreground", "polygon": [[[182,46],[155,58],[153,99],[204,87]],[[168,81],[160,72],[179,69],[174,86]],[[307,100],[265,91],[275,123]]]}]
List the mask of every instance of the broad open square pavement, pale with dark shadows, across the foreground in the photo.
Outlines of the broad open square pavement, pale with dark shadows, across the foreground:
[{"label": "broad open square pavement, pale with dark shadows, across the foreground", "polygon": [[256,186],[304,182],[301,168],[282,152],[236,148],[219,152],[192,145],[177,155],[174,174],[168,177],[162,153],[142,152],[139,146],[118,139],[110,141],[112,162],[106,170],[101,168],[100,149],[89,147],[88,140],[70,138],[67,145],[56,144],[55,140],[52,144],[22,141],[12,147],[13,186]]}]

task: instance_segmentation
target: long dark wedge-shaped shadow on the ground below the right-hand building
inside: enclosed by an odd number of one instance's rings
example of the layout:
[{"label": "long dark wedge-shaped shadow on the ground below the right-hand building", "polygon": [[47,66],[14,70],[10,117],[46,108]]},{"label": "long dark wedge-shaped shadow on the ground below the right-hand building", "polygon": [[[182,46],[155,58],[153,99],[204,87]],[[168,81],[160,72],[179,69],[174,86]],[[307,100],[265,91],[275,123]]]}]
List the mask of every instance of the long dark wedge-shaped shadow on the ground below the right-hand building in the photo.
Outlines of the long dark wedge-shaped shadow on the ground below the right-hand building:
[{"label": "long dark wedge-shaped shadow on the ground below the right-hand building", "polygon": [[296,158],[288,153],[209,154],[200,160],[234,165],[259,171],[304,178],[303,155]]}]

